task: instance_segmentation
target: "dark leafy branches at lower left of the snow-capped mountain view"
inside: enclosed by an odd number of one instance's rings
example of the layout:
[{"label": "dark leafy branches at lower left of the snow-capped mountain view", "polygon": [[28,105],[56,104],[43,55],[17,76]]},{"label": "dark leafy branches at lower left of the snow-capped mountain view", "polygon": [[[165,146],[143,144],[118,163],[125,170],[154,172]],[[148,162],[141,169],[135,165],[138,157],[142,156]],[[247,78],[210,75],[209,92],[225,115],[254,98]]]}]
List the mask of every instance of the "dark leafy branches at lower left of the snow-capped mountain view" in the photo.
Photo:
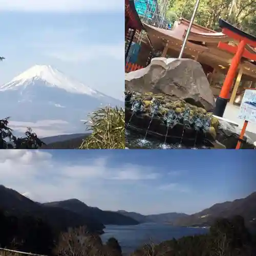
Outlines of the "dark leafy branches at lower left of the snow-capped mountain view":
[{"label": "dark leafy branches at lower left of the snow-capped mountain view", "polygon": [[31,128],[25,132],[24,137],[16,137],[8,126],[9,117],[0,119],[0,149],[37,149],[44,145]]}]

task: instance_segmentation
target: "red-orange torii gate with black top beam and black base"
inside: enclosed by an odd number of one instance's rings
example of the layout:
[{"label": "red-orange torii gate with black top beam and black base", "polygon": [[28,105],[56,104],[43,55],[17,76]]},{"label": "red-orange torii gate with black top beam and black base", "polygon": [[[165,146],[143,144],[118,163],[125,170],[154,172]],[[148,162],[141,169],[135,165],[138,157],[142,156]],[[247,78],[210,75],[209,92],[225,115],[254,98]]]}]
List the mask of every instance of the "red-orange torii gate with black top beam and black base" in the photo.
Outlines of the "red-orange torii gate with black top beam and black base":
[{"label": "red-orange torii gate with black top beam and black base", "polygon": [[239,41],[238,46],[230,46],[224,42],[219,42],[218,45],[218,48],[234,53],[234,57],[232,58],[220,95],[216,100],[216,108],[214,110],[214,115],[223,117],[228,102],[229,91],[232,87],[233,79],[236,76],[241,58],[245,57],[247,59],[256,60],[256,54],[250,53],[245,49],[246,45],[256,48],[256,37],[243,32],[242,30],[225,22],[223,19],[219,20],[219,26],[222,28],[223,34],[233,38],[235,41]]}]

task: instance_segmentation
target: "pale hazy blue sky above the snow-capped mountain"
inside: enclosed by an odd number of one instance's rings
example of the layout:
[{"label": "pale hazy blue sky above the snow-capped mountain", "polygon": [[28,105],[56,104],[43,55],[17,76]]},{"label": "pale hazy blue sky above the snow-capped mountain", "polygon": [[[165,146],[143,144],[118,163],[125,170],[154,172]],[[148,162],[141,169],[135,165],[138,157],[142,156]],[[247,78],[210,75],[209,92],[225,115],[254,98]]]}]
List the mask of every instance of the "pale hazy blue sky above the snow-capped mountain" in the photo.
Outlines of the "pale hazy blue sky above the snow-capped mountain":
[{"label": "pale hazy blue sky above the snow-capped mountain", "polygon": [[0,0],[0,85],[44,64],[122,98],[123,13],[120,0]]}]

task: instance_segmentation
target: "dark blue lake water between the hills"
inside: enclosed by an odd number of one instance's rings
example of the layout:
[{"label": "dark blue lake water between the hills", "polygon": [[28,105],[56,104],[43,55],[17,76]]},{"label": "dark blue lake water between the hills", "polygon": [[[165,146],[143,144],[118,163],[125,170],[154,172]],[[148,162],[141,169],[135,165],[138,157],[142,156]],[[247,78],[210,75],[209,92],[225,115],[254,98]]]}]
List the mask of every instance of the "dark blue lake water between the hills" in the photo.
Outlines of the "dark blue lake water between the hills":
[{"label": "dark blue lake water between the hills", "polygon": [[122,247],[123,253],[133,252],[147,242],[160,243],[173,238],[179,239],[194,234],[205,234],[207,228],[173,227],[168,224],[142,223],[133,226],[105,225],[102,242],[114,237]]}]

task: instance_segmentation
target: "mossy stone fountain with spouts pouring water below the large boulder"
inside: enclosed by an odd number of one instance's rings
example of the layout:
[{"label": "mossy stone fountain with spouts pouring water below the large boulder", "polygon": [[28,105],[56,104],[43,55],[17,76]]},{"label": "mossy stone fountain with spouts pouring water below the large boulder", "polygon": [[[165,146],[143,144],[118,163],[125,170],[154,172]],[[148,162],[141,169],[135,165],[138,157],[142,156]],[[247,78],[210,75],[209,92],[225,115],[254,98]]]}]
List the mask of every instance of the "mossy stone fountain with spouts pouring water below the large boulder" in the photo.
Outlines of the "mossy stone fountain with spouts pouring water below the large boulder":
[{"label": "mossy stone fountain with spouts pouring water below the large boulder", "polygon": [[[125,110],[125,138],[132,148],[209,148],[216,137],[212,115],[184,100],[126,91]],[[167,137],[176,138],[176,144]]]}]

